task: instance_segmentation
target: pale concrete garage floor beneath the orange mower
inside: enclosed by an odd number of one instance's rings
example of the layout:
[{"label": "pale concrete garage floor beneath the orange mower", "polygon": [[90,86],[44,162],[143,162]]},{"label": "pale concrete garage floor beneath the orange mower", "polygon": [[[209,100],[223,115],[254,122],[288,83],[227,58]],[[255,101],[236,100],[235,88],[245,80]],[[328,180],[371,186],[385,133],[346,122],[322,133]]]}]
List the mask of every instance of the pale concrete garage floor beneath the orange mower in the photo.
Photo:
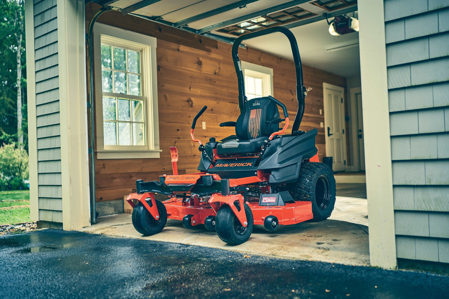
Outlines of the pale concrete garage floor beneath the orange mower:
[{"label": "pale concrete garage floor beneath the orange mower", "polygon": [[167,220],[161,233],[144,237],[132,226],[131,214],[97,218],[97,224],[79,231],[163,242],[271,255],[278,258],[369,265],[368,211],[365,184],[338,184],[335,209],[328,220],[280,226],[275,233],[255,225],[250,239],[241,245],[222,242],[201,226],[185,229],[181,221]]}]

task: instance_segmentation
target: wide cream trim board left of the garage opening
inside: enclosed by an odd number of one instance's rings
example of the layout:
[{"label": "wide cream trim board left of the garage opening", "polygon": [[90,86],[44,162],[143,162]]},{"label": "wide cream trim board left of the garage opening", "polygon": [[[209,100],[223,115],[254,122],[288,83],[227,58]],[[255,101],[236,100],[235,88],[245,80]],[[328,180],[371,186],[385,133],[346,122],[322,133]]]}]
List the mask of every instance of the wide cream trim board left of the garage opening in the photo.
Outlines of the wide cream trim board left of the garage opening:
[{"label": "wide cream trim board left of the garage opening", "polygon": [[83,0],[57,1],[64,230],[90,225],[84,11]]}]

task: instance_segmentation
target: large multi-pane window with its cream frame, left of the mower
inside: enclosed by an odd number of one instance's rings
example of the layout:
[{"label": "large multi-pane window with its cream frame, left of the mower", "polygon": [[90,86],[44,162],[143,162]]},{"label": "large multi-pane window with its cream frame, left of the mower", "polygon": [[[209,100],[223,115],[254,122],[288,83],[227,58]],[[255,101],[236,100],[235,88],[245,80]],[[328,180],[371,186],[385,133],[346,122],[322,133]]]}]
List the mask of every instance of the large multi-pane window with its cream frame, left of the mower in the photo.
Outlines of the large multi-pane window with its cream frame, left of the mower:
[{"label": "large multi-pane window with its cream frame, left of the mower", "polygon": [[97,158],[159,158],[156,39],[94,27]]}]

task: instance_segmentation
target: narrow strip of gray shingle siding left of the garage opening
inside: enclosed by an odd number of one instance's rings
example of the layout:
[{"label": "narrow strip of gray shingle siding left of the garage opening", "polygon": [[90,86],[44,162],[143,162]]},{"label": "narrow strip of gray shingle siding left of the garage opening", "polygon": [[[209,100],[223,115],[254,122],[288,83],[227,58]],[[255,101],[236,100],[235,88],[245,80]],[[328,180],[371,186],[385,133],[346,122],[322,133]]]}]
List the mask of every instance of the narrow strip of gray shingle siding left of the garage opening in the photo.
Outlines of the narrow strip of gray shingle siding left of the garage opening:
[{"label": "narrow strip of gray shingle siding left of the garage opening", "polygon": [[34,1],[39,220],[62,222],[57,1]]}]

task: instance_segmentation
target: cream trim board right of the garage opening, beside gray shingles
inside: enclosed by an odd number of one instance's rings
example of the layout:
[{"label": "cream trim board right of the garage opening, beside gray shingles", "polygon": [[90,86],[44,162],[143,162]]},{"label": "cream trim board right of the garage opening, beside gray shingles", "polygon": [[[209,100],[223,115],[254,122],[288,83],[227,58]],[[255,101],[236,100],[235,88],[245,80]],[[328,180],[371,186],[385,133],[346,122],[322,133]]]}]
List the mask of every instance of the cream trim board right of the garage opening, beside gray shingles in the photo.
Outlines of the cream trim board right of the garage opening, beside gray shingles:
[{"label": "cream trim board right of the garage opening, beside gray shingles", "polygon": [[360,70],[371,266],[397,266],[383,1],[359,1]]}]

